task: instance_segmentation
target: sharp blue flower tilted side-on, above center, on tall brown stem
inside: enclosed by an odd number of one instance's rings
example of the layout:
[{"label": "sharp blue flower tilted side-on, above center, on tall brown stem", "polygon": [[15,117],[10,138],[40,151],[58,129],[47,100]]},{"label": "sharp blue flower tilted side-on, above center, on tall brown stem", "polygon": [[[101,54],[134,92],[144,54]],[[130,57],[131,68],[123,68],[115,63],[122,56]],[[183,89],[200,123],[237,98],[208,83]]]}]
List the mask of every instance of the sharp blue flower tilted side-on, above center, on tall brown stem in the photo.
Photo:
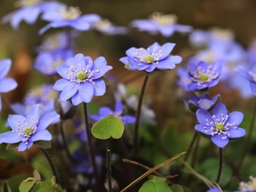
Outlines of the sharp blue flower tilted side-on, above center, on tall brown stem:
[{"label": "sharp blue flower tilted side-on, above center, on tall brown stem", "polygon": [[130,48],[126,50],[125,57],[119,59],[125,65],[129,63],[131,70],[153,72],[154,70],[170,70],[176,67],[175,64],[180,63],[182,58],[178,55],[170,56],[175,44],[166,43],[160,46],[154,43],[144,48]]}]

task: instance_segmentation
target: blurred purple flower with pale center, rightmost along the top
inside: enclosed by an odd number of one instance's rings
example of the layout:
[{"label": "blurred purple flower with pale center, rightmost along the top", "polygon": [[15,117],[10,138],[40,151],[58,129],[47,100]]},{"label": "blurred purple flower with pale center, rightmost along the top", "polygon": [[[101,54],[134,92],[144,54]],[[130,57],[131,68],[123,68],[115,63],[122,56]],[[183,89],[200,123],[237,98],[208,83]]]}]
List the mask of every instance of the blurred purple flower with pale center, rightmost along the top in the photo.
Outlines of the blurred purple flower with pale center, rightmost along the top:
[{"label": "blurred purple flower with pale center, rightmost along the top", "polygon": [[177,24],[176,15],[163,15],[155,12],[149,17],[149,20],[133,20],[131,25],[137,27],[139,31],[146,31],[151,34],[160,32],[161,35],[168,38],[173,32],[191,32],[191,26]]}]

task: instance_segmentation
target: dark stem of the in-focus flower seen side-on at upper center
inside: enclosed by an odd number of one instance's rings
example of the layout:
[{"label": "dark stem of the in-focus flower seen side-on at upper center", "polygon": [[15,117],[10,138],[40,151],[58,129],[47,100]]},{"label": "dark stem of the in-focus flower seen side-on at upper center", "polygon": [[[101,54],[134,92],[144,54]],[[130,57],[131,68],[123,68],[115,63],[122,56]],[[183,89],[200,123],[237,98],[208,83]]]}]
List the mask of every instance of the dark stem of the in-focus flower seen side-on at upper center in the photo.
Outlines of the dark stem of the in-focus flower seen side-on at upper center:
[{"label": "dark stem of the in-focus flower seen side-on at upper center", "polygon": [[142,105],[143,105],[143,96],[146,89],[146,85],[148,82],[148,74],[146,73],[144,81],[143,81],[143,87],[139,96],[139,101],[137,103],[137,115],[136,115],[136,122],[135,122],[135,129],[134,129],[134,154],[137,156],[138,153],[138,128],[140,124],[140,117],[141,117],[141,111],[142,111]]}]

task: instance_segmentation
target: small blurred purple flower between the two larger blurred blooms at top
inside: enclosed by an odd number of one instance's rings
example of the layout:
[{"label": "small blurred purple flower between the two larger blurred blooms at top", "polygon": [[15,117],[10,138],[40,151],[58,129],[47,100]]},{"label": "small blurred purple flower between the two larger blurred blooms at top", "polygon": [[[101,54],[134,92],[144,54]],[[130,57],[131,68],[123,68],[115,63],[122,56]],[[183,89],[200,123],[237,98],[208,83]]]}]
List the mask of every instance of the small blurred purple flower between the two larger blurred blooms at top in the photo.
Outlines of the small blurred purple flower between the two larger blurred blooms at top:
[{"label": "small blurred purple flower between the two larger blurred blooms at top", "polygon": [[102,32],[108,35],[122,35],[128,32],[127,27],[113,26],[109,20],[99,20],[92,24],[92,28],[98,32]]}]

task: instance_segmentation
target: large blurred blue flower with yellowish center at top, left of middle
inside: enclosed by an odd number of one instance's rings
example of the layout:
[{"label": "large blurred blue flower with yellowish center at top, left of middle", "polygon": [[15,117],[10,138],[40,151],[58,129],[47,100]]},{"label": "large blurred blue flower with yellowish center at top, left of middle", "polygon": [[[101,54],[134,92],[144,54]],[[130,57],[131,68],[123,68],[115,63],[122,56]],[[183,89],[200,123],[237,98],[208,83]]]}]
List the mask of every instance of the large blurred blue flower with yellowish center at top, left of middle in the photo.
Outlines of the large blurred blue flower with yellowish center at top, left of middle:
[{"label": "large blurred blue flower with yellowish center at top, left of middle", "polygon": [[86,31],[90,29],[92,23],[101,20],[101,17],[96,14],[80,15],[81,11],[79,8],[74,7],[45,12],[42,15],[42,19],[50,21],[50,23],[40,29],[39,34],[43,34],[51,27],[59,28],[64,26],[69,26],[79,31]]}]

